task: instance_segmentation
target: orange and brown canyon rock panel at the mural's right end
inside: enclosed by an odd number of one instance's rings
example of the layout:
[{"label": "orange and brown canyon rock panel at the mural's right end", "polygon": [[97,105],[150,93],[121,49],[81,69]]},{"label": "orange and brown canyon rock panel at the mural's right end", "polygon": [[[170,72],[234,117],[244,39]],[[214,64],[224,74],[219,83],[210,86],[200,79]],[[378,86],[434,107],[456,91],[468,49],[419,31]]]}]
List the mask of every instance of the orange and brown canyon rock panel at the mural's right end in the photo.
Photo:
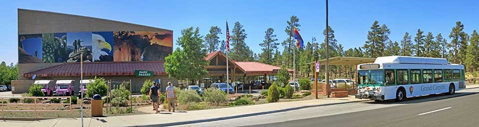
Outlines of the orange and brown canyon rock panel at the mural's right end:
[{"label": "orange and brown canyon rock panel at the mural's right end", "polygon": [[113,32],[114,61],[164,61],[173,51],[173,33],[148,31]]}]

